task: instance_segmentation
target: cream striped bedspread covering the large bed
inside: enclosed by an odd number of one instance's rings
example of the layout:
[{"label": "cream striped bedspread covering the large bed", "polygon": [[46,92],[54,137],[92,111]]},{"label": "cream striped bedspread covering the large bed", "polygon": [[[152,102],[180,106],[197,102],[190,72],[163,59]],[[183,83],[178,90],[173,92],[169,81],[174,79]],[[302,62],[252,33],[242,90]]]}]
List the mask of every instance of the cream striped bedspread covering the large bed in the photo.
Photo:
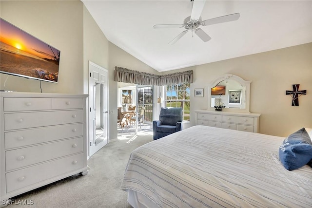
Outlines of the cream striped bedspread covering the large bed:
[{"label": "cream striped bedspread covering the large bed", "polygon": [[132,152],[121,189],[161,208],[308,208],[312,168],[286,170],[283,137],[193,126]]}]

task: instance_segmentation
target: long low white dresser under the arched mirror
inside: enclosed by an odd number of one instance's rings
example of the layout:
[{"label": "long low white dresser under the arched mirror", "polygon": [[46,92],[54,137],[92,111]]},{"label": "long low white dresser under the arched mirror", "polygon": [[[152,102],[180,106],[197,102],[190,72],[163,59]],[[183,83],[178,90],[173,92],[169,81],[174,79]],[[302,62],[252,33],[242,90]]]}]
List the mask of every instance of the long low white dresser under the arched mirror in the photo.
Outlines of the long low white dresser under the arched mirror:
[{"label": "long low white dresser under the arched mirror", "polygon": [[234,113],[198,110],[196,125],[233,129],[245,132],[259,132],[260,113]]}]

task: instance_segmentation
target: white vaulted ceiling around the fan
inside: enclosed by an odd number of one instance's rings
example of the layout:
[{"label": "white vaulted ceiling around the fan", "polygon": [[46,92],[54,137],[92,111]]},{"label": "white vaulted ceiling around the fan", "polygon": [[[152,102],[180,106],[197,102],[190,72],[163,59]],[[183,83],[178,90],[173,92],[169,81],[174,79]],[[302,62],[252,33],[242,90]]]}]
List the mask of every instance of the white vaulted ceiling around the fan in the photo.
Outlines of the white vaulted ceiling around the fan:
[{"label": "white vaulted ceiling around the fan", "polygon": [[[311,0],[206,0],[202,20],[240,13],[236,21],[200,26],[212,39],[203,42],[184,28],[190,0],[82,0],[106,38],[119,48],[165,72],[312,42]],[[133,69],[138,70],[138,69]]]}]

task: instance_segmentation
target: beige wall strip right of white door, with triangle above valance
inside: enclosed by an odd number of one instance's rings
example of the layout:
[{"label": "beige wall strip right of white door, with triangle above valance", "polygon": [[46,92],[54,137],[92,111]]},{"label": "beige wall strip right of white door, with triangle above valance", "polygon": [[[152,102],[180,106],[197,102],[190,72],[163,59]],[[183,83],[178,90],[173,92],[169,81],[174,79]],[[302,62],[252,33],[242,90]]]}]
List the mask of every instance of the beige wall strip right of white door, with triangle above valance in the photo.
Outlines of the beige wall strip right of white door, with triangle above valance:
[{"label": "beige wall strip right of white door, with triangle above valance", "polygon": [[[138,60],[136,57],[133,57],[132,55],[128,54],[121,48],[117,47],[113,43],[109,43],[109,69],[110,69],[110,75],[109,75],[109,88],[110,88],[110,109],[114,110],[115,114],[112,116],[110,115],[110,123],[116,124],[116,126],[111,125],[110,128],[110,136],[111,138],[117,138],[117,90],[118,90],[118,82],[111,81],[114,80],[114,72],[115,66],[117,67],[123,67],[131,70],[146,72],[146,73],[152,73],[152,74],[159,74],[156,70],[154,70],[152,67],[146,65],[142,61]],[[111,73],[112,72],[112,73]]]}]

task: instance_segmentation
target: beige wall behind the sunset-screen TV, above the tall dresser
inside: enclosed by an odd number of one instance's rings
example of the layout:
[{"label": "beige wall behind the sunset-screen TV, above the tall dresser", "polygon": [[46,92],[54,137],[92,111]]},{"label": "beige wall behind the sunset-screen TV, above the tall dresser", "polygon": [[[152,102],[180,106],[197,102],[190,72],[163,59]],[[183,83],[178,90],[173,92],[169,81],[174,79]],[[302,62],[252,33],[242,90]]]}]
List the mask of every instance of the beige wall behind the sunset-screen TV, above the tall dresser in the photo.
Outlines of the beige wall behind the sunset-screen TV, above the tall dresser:
[{"label": "beige wall behind the sunset-screen TV, above the tall dresser", "polygon": [[[0,17],[60,50],[58,83],[41,81],[43,93],[83,93],[83,3],[0,1]],[[0,74],[0,89],[8,75]],[[40,92],[40,81],[9,76],[6,89]]]}]

